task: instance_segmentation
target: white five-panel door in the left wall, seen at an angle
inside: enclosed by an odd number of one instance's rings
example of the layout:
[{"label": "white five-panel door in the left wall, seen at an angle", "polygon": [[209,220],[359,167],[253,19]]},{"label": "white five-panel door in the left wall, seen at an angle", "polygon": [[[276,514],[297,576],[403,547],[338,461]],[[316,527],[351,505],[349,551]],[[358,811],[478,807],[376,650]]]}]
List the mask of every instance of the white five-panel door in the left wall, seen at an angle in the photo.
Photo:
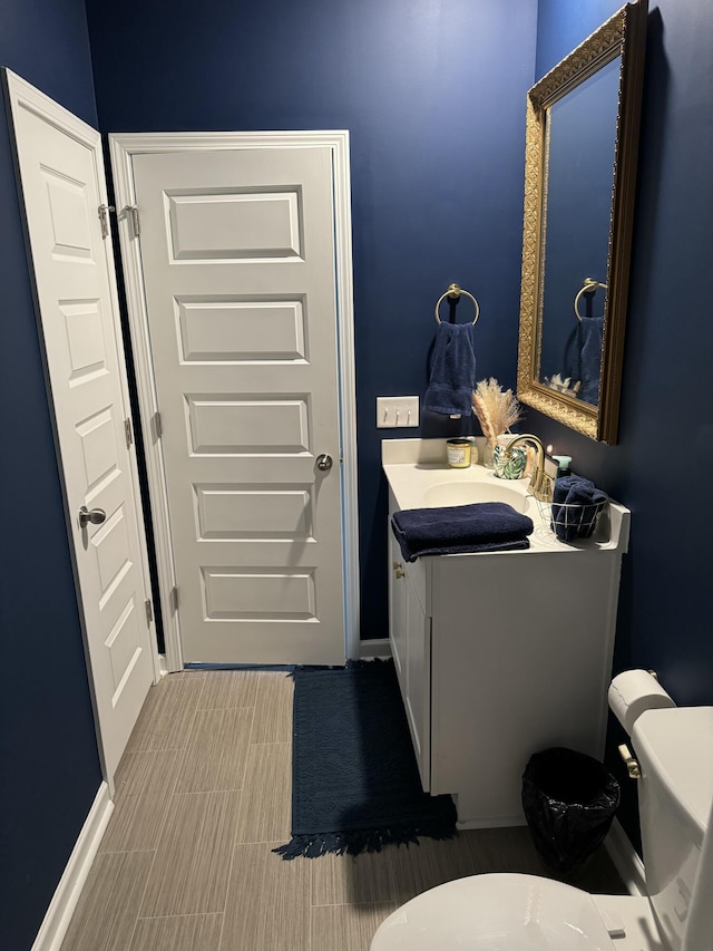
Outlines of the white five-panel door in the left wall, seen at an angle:
[{"label": "white five-panel door in the left wall, seen at an angle", "polygon": [[[150,598],[99,133],[8,74],[106,777],[154,680]],[[37,540],[41,545],[41,537]],[[38,579],[38,598],[42,581]]]}]

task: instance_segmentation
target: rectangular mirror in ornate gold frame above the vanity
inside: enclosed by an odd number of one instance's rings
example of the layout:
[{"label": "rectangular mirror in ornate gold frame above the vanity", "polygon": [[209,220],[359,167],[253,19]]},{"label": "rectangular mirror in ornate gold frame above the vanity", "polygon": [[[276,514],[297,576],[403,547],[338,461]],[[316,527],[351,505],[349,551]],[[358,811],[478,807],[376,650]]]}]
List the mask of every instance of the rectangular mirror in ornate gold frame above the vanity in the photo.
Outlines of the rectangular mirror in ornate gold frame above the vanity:
[{"label": "rectangular mirror in ornate gold frame above the vanity", "polygon": [[529,90],[518,399],[616,441],[647,0]]}]

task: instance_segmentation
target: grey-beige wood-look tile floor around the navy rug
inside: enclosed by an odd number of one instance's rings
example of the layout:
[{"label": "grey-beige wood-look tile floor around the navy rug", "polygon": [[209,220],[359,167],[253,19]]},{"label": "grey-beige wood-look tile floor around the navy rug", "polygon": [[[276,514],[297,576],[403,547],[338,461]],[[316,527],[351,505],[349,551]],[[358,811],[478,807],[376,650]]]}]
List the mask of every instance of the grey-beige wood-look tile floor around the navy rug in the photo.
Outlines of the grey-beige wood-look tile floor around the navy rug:
[{"label": "grey-beige wood-look tile floor around the navy rug", "polygon": [[[187,671],[153,687],[61,951],[368,951],[393,909],[480,872],[550,874],[526,828],[285,862],[292,679]],[[575,883],[623,893],[604,850]]]}]

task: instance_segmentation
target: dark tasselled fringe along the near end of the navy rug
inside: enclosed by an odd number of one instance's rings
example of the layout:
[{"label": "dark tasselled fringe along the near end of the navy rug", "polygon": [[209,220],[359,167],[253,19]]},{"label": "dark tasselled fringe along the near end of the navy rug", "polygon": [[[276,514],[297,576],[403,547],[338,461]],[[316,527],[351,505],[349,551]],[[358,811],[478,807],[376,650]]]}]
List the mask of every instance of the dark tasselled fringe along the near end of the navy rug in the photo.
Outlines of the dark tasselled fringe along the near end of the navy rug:
[{"label": "dark tasselled fringe along the near end of the navy rug", "polygon": [[322,855],[360,855],[363,852],[381,852],[384,845],[419,845],[419,837],[453,838],[458,835],[452,824],[429,823],[428,828],[419,825],[395,826],[382,829],[358,829],[353,832],[326,832],[310,835],[293,835],[285,845],[272,851],[282,858],[319,858]]}]

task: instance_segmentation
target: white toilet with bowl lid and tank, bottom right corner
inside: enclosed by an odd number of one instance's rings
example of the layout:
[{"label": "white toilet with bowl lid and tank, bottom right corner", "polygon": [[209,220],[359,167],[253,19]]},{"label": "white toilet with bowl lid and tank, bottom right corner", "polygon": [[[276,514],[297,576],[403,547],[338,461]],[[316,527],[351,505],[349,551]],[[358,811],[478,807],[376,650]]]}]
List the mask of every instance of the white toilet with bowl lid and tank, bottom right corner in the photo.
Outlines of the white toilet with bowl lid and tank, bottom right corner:
[{"label": "white toilet with bowl lid and tank, bottom right corner", "polygon": [[645,710],[632,744],[647,896],[473,875],[402,905],[371,951],[713,951],[713,707]]}]

